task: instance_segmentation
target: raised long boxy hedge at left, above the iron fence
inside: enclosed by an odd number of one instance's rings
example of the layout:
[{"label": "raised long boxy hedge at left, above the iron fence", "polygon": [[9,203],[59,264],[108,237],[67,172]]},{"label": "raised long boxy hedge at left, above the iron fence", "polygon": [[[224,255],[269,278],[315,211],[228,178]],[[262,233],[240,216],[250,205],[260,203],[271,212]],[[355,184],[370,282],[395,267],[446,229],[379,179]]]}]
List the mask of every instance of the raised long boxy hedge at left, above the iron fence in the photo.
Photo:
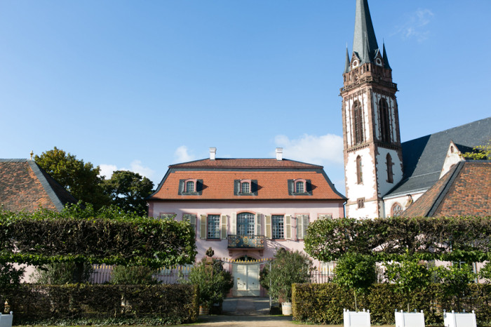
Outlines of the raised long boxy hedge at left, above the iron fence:
[{"label": "raised long boxy hedge at left, above the iron fence", "polygon": [[194,262],[189,222],[156,220],[118,208],[72,206],[61,213],[0,211],[0,262],[89,262],[159,268]]}]

